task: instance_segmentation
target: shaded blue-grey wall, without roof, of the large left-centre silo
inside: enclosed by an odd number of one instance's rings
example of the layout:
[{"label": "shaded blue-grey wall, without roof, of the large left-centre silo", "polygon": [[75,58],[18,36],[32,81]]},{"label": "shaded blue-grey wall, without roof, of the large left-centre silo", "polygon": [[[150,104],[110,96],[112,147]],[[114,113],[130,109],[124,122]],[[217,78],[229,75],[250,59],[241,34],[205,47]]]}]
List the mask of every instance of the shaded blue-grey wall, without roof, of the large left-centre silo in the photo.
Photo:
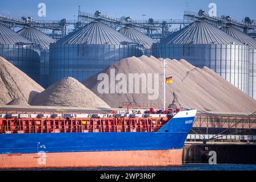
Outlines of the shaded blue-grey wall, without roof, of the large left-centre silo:
[{"label": "shaded blue-grey wall, without roof, of the large left-centre silo", "polygon": [[49,83],[68,76],[83,81],[131,56],[142,56],[142,49],[138,46],[121,45],[51,44]]}]

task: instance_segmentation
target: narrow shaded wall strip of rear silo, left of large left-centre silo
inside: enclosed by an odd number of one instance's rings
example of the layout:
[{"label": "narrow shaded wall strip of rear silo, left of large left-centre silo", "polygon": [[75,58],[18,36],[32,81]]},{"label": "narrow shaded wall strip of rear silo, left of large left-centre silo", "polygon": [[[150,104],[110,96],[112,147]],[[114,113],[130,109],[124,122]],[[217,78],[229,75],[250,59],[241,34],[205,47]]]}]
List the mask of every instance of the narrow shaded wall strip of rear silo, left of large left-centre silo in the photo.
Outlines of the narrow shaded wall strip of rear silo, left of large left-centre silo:
[{"label": "narrow shaded wall strip of rear silo, left of large left-centre silo", "polygon": [[49,86],[49,49],[41,49],[40,55],[40,85]]}]

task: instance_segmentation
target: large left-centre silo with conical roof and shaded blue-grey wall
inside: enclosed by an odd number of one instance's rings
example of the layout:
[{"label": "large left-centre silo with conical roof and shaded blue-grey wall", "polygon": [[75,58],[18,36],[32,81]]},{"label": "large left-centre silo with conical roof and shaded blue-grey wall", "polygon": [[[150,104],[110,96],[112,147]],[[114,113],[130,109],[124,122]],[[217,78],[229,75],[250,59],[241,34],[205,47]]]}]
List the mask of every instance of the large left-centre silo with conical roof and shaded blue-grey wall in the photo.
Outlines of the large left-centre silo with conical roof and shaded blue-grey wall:
[{"label": "large left-centre silo with conical roof and shaded blue-grey wall", "polygon": [[134,40],[102,22],[91,22],[50,45],[50,82],[64,77],[85,80],[115,62],[141,56]]}]

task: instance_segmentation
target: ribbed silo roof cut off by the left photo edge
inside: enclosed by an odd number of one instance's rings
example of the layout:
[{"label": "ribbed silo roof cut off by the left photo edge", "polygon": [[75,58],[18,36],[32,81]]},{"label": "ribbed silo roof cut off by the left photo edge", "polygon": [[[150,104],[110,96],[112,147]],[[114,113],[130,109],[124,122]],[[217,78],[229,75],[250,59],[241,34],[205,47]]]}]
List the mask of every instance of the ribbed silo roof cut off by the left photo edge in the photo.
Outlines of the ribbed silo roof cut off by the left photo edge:
[{"label": "ribbed silo roof cut off by the left photo edge", "polygon": [[0,44],[16,45],[16,44],[32,44],[30,40],[17,34],[15,31],[0,24]]}]

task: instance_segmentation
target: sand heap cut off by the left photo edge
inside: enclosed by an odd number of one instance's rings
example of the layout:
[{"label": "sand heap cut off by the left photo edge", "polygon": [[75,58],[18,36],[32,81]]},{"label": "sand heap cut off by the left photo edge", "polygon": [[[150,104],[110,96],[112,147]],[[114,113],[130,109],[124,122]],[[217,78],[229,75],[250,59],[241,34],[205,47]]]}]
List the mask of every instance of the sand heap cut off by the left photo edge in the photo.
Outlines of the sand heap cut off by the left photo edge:
[{"label": "sand heap cut off by the left photo edge", "polygon": [[25,73],[0,57],[0,104],[5,105],[15,98],[30,103],[44,89]]}]

